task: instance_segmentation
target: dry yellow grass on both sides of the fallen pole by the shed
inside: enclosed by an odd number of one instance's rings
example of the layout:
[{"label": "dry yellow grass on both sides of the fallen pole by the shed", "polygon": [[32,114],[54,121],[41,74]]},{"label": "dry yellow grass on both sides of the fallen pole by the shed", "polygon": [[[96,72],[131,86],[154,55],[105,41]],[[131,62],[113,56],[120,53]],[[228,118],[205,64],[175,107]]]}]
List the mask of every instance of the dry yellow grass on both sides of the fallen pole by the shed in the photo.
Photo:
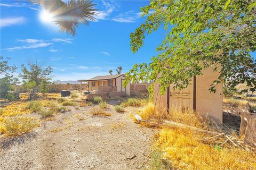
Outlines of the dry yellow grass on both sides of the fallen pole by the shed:
[{"label": "dry yellow grass on both sides of the fallen pole by the shed", "polygon": [[[213,130],[207,118],[194,112],[154,111],[154,106],[148,104],[139,111],[143,119],[170,120],[187,124],[200,129]],[[215,130],[215,129],[214,129]],[[163,153],[173,169],[256,169],[256,155],[243,149],[235,148],[232,144],[215,148],[216,140],[205,139],[212,135],[198,133],[190,129],[162,129],[155,139],[155,150]],[[159,158],[159,159],[163,159]]]}]

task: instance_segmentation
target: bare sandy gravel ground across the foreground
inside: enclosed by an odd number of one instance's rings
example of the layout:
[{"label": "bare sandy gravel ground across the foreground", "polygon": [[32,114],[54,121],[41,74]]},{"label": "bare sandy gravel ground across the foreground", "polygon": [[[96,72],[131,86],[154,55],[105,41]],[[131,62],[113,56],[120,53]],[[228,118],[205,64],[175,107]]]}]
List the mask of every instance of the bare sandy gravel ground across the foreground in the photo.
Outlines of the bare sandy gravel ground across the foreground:
[{"label": "bare sandy gravel ground across the foreground", "polygon": [[0,141],[0,169],[143,169],[147,168],[156,130],[133,123],[124,113],[92,116],[90,106],[69,106],[33,132]]}]

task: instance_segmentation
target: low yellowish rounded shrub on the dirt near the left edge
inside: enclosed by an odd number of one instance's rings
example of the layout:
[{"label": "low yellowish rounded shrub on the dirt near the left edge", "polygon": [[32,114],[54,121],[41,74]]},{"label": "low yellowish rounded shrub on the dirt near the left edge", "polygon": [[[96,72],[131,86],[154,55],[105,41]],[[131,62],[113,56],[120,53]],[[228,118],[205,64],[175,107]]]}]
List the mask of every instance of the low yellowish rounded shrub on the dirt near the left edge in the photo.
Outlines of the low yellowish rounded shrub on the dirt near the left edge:
[{"label": "low yellowish rounded shrub on the dirt near the left edge", "polygon": [[30,132],[39,126],[39,124],[34,117],[12,116],[5,117],[3,126],[6,135],[15,136]]}]

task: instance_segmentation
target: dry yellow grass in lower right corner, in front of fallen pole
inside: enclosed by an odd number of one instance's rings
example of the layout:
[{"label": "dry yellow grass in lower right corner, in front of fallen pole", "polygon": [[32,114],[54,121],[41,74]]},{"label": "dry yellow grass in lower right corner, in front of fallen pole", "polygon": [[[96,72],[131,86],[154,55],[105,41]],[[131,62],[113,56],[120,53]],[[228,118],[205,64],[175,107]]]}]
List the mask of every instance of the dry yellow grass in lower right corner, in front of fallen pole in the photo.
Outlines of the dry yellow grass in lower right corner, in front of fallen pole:
[{"label": "dry yellow grass in lower right corner, in front of fallen pole", "polygon": [[156,145],[174,169],[256,169],[256,155],[238,148],[214,148],[190,130],[163,129]]}]

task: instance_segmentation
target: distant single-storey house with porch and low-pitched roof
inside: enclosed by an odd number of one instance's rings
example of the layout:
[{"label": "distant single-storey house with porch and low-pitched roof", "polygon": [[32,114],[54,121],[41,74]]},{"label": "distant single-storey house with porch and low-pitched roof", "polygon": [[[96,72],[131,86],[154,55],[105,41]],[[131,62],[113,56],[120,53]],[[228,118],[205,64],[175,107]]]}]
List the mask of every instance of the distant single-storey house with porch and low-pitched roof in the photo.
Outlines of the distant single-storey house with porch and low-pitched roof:
[{"label": "distant single-storey house with porch and low-pitched roof", "polygon": [[[104,93],[115,93],[116,95],[128,95],[130,96],[130,83],[127,84],[126,87],[123,87],[123,82],[125,80],[124,74],[116,74],[116,75],[99,75],[94,78],[88,80],[77,80],[78,82],[87,82],[88,83],[88,91],[92,92],[94,90],[98,90],[99,94],[104,96]],[[114,95],[114,94],[110,94]]]}]

